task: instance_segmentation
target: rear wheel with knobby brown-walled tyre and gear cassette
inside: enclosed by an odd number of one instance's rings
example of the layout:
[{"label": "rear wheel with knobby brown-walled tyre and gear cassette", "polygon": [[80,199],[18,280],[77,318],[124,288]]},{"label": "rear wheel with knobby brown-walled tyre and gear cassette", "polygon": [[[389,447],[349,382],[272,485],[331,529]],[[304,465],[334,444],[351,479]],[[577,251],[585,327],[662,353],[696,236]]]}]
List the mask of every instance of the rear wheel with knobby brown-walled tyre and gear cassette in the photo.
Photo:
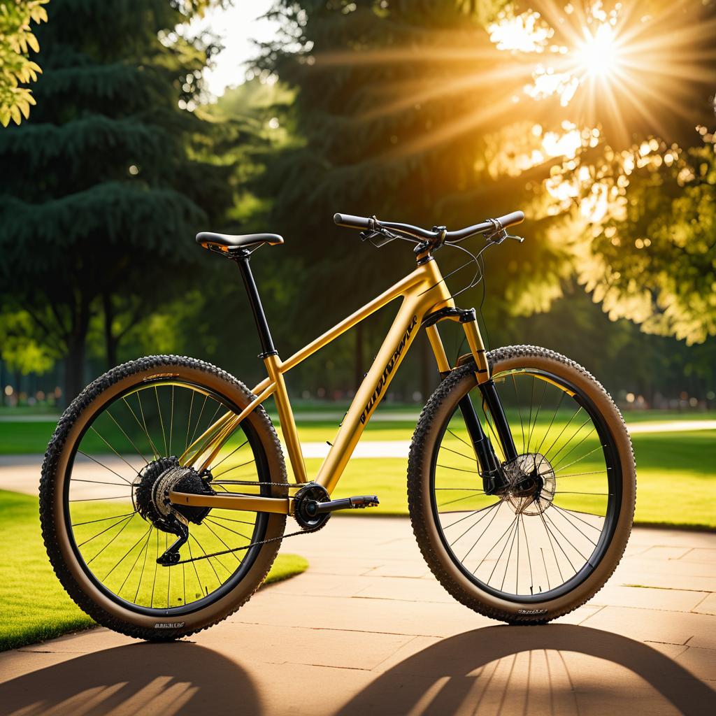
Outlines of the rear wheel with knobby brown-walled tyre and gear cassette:
[{"label": "rear wheel with knobby brown-walled tyre and gear cassette", "polygon": [[[286,516],[183,508],[175,519],[165,497],[175,485],[286,495],[284,457],[261,407],[208,473],[179,465],[210,425],[250,401],[246,387],[216,367],[159,356],[112,369],[64,412],[42,466],[42,534],[62,585],[100,624],[175,639],[226,618],[260,586],[280,541],[254,543],[280,538]],[[178,563],[158,563],[183,531]]]}]

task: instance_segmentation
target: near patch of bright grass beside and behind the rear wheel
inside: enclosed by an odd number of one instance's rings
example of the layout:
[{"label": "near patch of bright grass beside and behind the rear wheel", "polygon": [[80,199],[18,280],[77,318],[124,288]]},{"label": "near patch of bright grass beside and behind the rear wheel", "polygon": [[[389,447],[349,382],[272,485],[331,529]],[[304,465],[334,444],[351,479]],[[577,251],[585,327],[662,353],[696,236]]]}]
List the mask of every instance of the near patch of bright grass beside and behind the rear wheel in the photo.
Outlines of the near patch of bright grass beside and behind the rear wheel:
[{"label": "near patch of bright grass beside and behind the rear wheel", "polygon": [[[302,557],[279,555],[266,582],[299,574],[307,566]],[[49,565],[37,498],[4,490],[0,490],[0,609],[0,651],[94,624],[65,594]]]}]

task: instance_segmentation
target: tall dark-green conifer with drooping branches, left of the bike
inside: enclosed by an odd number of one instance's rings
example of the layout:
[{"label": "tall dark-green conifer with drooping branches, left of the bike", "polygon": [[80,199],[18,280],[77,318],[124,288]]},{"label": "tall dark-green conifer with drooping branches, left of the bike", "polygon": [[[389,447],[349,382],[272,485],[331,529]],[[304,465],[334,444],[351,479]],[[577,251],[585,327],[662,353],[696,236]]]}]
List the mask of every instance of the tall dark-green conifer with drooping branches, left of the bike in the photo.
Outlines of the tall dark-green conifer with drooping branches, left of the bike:
[{"label": "tall dark-green conifer with drooping branches, left of the bike", "polygon": [[37,109],[0,135],[3,289],[62,345],[68,399],[92,316],[115,362],[127,328],[195,280],[192,236],[231,204],[218,125],[194,111],[215,48],[175,29],[207,4],[54,0]]}]

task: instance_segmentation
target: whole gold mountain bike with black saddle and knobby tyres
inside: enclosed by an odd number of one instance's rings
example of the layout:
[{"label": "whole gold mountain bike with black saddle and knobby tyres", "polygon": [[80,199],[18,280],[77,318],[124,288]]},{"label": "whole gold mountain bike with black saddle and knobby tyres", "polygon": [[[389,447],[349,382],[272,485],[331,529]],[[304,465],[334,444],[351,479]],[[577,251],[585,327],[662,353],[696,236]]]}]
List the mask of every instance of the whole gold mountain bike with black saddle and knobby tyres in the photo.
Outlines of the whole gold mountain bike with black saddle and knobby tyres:
[{"label": "whole gold mountain bike with black saddle and knobby tyres", "polygon": [[[145,357],[97,378],[69,405],[42,465],[40,516],[72,599],[117,632],[183,637],[245,604],[284,538],[323,528],[336,511],[379,505],[377,495],[333,493],[420,329],[441,381],[412,437],[407,498],[432,573],[470,609],[512,624],[546,623],[594,596],[634,516],[636,468],[621,414],[589,372],[556,352],[488,352],[475,309],[456,306],[435,260],[468,238],[481,236],[482,251],[518,238],[507,230],[523,218],[448,231],[336,214],[375,246],[410,242],[417,266],[286,360],[250,267],[256,248],[283,238],[198,234],[241,271],[267,376],[248,390],[199,360]],[[284,376],[396,299],[395,321],[311,478]],[[458,324],[469,346],[454,366],[443,321]],[[269,397],[290,479],[263,407]]]}]

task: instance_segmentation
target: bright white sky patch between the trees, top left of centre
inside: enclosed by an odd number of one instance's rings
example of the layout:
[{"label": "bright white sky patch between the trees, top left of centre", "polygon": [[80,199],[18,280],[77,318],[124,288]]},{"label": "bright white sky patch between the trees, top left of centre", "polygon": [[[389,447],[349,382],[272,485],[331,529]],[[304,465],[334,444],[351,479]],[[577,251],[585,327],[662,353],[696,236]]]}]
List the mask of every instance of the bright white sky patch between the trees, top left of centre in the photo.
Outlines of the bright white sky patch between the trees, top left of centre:
[{"label": "bright white sky patch between the trees, top left of centre", "polygon": [[222,95],[226,87],[241,84],[246,62],[256,56],[254,40],[266,42],[276,34],[277,23],[260,19],[272,0],[236,0],[233,7],[207,13],[201,24],[221,37],[225,49],[216,57],[216,67],[206,72],[209,91]]}]

